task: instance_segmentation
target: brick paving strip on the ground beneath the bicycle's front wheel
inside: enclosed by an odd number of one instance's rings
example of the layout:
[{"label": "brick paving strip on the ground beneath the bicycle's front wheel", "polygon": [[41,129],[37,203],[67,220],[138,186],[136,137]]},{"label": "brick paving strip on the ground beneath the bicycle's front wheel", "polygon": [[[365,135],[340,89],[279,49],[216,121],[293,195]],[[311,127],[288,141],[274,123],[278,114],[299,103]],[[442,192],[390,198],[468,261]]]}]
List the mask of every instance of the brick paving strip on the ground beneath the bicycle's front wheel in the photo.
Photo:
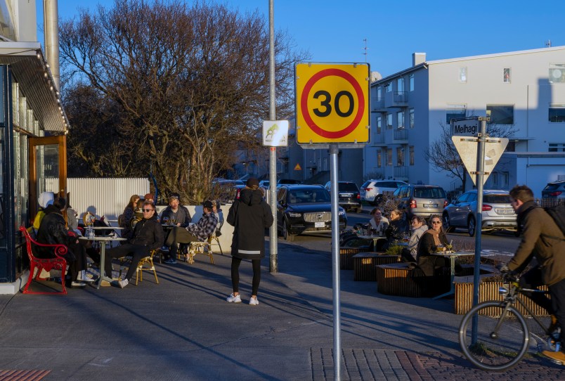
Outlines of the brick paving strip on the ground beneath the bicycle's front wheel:
[{"label": "brick paving strip on the ground beneath the bicycle's front wheel", "polygon": [[[334,380],[331,348],[311,348],[312,380]],[[565,380],[565,366],[543,356],[531,355],[516,367],[501,373],[474,368],[463,355],[441,352],[417,354],[384,349],[342,349],[342,380]]]}]

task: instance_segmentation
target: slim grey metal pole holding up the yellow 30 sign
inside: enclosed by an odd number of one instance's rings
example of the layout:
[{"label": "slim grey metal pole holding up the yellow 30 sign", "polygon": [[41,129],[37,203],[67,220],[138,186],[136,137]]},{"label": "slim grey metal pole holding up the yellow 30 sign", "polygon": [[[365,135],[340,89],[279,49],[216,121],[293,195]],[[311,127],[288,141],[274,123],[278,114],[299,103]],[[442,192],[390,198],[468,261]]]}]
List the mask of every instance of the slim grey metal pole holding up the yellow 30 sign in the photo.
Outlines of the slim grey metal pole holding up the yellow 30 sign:
[{"label": "slim grey metal pole holding up the yellow 30 sign", "polygon": [[341,380],[342,374],[342,316],[339,302],[339,191],[337,186],[337,144],[330,144],[330,181],[332,182],[332,278],[334,307],[334,380]]}]

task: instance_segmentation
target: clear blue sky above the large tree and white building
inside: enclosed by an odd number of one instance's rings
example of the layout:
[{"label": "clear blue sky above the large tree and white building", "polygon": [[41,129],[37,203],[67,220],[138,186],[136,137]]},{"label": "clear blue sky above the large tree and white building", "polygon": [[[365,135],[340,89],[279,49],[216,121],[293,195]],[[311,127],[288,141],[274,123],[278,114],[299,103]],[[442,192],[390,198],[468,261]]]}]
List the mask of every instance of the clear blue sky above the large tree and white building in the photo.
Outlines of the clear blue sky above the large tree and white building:
[{"label": "clear blue sky above the large tree and white building", "polygon": [[[190,2],[190,0],[187,0]],[[268,19],[268,0],[219,1]],[[38,1],[39,3],[39,1]],[[58,0],[59,16],[77,8],[111,7],[113,0]],[[561,0],[274,0],[275,29],[287,30],[314,62],[367,62],[383,77],[427,60],[477,56],[565,45]],[[38,15],[37,20],[42,20]],[[42,39],[42,37],[40,37]]]}]

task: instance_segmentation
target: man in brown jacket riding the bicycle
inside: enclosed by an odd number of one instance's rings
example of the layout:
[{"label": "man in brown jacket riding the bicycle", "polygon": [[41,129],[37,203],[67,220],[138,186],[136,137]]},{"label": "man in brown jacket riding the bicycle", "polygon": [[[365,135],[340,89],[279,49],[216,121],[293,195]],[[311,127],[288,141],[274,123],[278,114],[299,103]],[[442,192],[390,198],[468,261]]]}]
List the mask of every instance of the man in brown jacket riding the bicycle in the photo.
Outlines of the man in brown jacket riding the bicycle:
[{"label": "man in brown jacket riding the bicycle", "polygon": [[[533,192],[527,186],[514,186],[510,203],[517,212],[521,242],[510,261],[500,271],[523,271],[532,257],[537,265],[520,278],[522,288],[547,285],[551,300],[543,293],[526,293],[535,304],[551,314],[552,328],[565,328],[565,236],[552,217],[535,205]],[[563,337],[561,348],[564,348]],[[563,351],[543,351],[545,356],[565,363]]]}]

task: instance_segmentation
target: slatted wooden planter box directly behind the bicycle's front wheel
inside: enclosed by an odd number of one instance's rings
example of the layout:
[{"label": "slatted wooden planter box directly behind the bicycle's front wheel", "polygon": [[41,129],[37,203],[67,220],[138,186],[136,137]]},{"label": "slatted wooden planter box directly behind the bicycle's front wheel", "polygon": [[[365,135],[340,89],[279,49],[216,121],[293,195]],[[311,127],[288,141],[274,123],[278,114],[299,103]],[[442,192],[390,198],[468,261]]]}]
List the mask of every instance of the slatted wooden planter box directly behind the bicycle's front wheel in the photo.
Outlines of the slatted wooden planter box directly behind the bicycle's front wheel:
[{"label": "slatted wooden planter box directly behind the bicycle's front wheel", "polygon": [[[502,295],[498,293],[498,288],[502,287],[502,282],[481,282],[479,284],[479,303],[487,300],[502,300]],[[543,286],[540,290],[546,290],[547,286]],[[549,296],[549,295],[548,295]],[[528,306],[528,309],[538,316],[548,316],[547,311],[525,295],[520,295],[522,302]],[[455,283],[455,314],[466,314],[473,306],[473,283]],[[522,308],[520,304],[514,305],[521,314],[528,316],[528,312]],[[492,316],[492,315],[489,315]]]}]

